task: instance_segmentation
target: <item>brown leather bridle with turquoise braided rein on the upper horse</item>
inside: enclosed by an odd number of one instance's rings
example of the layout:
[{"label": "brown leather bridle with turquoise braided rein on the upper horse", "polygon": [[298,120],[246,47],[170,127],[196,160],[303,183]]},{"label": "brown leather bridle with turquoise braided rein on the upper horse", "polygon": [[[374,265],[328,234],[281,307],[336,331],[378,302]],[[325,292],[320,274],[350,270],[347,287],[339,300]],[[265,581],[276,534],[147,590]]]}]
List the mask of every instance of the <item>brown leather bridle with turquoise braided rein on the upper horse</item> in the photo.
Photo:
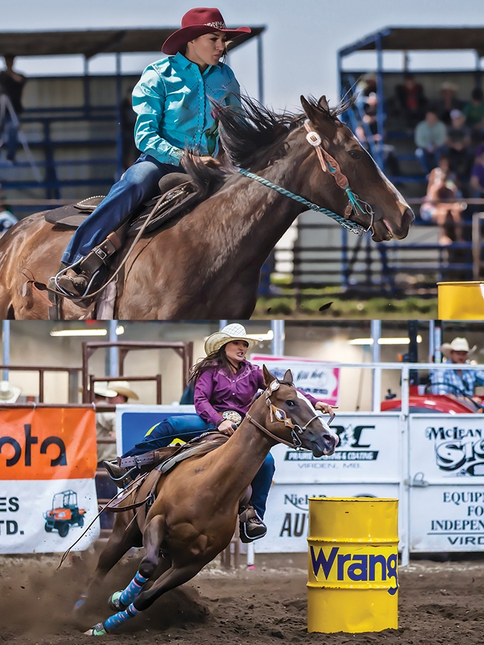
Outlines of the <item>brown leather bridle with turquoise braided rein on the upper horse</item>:
[{"label": "brown leather bridle with turquoise braided rein on the upper horse", "polygon": [[[263,178],[260,175],[256,175],[248,170],[239,168],[238,169],[239,173],[245,177],[248,177],[249,179],[258,181],[259,183],[263,184],[264,186],[267,186],[268,188],[272,188],[272,190],[277,191],[281,195],[285,195],[286,197],[290,197],[291,199],[294,199],[295,201],[301,204],[304,204],[305,206],[307,206],[309,209],[313,211],[324,213],[328,217],[331,217],[332,219],[337,221],[337,223],[342,225],[342,227],[346,228],[346,230],[351,231],[352,233],[355,233],[358,236],[361,236],[363,233],[373,234],[373,224],[375,223],[375,212],[373,211],[373,208],[368,202],[358,197],[357,194],[353,192],[353,190],[350,188],[348,178],[346,177],[346,175],[342,173],[341,168],[339,167],[339,164],[335,160],[335,158],[332,157],[324,149],[322,145],[321,137],[314,129],[311,129],[309,120],[307,120],[304,123],[304,128],[308,131],[306,135],[306,141],[315,149],[322,171],[329,172],[331,176],[333,176],[333,178],[335,179],[336,185],[339,188],[343,189],[346,193],[346,196],[348,197],[348,205],[344,209],[344,216],[339,215],[322,206],[318,206],[317,204],[310,202],[304,197],[301,197],[300,195],[292,193],[290,190],[287,190],[286,188],[283,188],[277,184],[274,184],[274,182],[266,178]],[[353,213],[357,215],[358,211],[360,211],[364,215],[369,215],[370,223],[368,228],[364,228],[361,224],[358,224],[357,222],[351,219],[351,216],[353,215]]]}]

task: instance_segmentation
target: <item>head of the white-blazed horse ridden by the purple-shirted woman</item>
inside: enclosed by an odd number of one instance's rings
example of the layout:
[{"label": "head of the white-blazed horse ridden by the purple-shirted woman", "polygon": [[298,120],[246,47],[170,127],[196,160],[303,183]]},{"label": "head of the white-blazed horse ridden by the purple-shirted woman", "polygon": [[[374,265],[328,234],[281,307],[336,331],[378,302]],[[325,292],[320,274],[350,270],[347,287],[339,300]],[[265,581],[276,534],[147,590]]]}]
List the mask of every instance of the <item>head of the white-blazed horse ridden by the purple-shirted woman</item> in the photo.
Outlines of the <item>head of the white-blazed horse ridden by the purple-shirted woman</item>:
[{"label": "head of the white-blazed horse ridden by the purple-shirted woman", "polygon": [[[277,380],[263,366],[264,382],[267,389],[259,398],[267,409],[263,426],[255,423],[273,439],[295,448],[306,448],[315,457],[332,455],[338,437],[322,420],[308,399],[292,383],[292,373],[286,371],[283,380]],[[250,420],[254,422],[251,415]]]}]

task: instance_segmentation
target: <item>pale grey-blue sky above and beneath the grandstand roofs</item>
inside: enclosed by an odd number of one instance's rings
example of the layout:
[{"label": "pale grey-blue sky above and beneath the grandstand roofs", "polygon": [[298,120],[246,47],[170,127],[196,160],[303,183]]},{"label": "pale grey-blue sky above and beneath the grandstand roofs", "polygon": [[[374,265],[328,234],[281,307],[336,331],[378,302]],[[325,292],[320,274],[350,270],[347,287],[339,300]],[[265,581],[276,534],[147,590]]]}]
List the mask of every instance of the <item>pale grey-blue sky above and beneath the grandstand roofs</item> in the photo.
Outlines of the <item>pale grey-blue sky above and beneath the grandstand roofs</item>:
[{"label": "pale grey-blue sky above and beneath the grandstand roofs", "polygon": [[[230,26],[263,25],[265,101],[292,109],[299,95],[337,97],[337,50],[385,26],[484,25],[483,0],[218,0]],[[193,0],[0,0],[0,31],[109,27],[179,26]],[[230,57],[241,86],[257,95],[256,44],[250,41]],[[140,73],[157,55],[127,57],[124,71]],[[162,57],[162,55],[160,55]],[[348,62],[351,59],[348,59]],[[395,68],[400,55],[389,55]],[[371,54],[352,64],[371,65]],[[471,54],[411,55],[413,68],[471,67]],[[82,59],[18,59],[30,75],[80,73]],[[113,57],[99,56],[92,73],[113,71]]]}]

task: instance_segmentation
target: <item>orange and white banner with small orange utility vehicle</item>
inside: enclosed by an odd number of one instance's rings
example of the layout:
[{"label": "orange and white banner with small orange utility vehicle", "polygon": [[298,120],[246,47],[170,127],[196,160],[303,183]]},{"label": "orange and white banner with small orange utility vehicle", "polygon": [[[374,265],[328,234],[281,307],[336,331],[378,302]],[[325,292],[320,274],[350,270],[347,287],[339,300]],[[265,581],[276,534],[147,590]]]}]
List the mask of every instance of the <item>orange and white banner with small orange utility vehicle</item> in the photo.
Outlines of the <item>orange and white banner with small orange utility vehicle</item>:
[{"label": "orange and white banner with small orange utility vehicle", "polygon": [[0,552],[64,552],[79,538],[98,512],[96,462],[93,409],[0,408]]}]

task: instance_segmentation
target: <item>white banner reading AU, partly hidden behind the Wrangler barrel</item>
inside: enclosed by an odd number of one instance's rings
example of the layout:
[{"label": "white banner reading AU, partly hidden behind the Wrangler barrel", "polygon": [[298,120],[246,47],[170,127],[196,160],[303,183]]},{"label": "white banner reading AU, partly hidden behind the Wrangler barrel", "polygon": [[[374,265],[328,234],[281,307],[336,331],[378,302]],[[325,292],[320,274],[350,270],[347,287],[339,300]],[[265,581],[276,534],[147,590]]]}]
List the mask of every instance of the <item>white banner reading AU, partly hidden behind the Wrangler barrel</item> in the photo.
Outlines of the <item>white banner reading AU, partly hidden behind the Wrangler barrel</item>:
[{"label": "white banner reading AU, partly hidden behind the Wrangler barrel", "polygon": [[303,553],[308,550],[310,497],[398,498],[398,484],[280,484],[273,485],[264,522],[266,537],[255,543],[258,553]]}]

